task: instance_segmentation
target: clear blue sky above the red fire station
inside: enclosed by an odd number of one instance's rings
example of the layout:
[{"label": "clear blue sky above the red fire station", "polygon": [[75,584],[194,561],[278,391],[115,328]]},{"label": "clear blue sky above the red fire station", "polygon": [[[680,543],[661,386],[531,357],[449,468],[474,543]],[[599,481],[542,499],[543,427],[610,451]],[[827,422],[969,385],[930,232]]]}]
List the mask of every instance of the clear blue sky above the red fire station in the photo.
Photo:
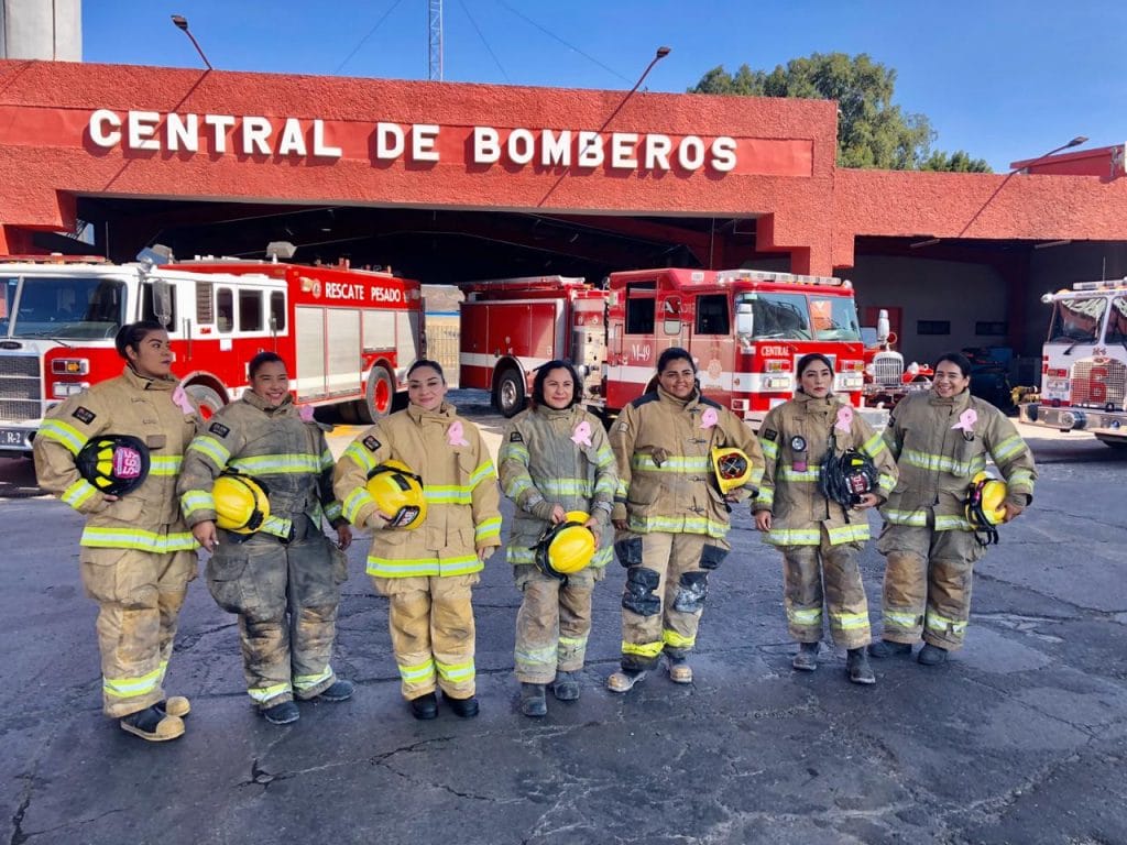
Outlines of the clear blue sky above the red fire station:
[{"label": "clear blue sky above the red fire station", "polygon": [[[83,59],[426,79],[426,0],[86,0]],[[382,21],[382,23],[381,23]],[[1075,135],[1127,141],[1127,3],[1110,0],[445,0],[447,81],[684,91],[706,71],[770,70],[814,52],[868,53],[935,148],[1004,172]]]}]

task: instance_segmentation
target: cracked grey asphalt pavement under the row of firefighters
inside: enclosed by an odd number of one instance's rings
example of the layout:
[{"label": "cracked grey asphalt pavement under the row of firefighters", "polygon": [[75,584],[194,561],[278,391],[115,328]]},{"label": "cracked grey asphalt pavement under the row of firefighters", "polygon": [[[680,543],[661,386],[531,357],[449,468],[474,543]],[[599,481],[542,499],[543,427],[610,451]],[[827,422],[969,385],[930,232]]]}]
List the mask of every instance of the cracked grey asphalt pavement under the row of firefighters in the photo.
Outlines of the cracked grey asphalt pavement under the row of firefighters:
[{"label": "cracked grey asphalt pavement under the row of firefighters", "polygon": [[[496,445],[503,420],[472,394],[455,401]],[[355,697],[267,724],[243,690],[234,617],[196,581],[166,683],[193,712],[166,745],[100,713],[81,518],[35,496],[29,462],[0,462],[0,842],[1125,843],[1127,453],[1026,434],[1037,499],[977,567],[967,647],[946,666],[873,661],[877,685],[859,687],[824,642],[817,671],[792,671],[780,560],[745,510],[711,579],[692,685],[651,673],[627,695],[603,687],[620,642],[612,563],[583,697],[520,715],[520,596],[498,554],[474,595],[481,715],[417,722],[361,537],[334,660]],[[871,545],[862,569],[879,629]]]}]

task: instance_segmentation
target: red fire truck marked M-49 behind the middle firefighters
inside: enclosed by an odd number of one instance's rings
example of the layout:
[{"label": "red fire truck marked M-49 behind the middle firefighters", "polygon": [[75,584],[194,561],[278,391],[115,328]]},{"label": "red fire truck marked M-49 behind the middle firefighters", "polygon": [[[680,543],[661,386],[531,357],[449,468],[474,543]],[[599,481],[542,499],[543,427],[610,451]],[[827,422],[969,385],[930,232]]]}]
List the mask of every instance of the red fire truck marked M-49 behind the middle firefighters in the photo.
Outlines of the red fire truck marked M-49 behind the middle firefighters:
[{"label": "red fire truck marked M-49 behind the middle firefighters", "polygon": [[[763,270],[663,268],[612,273],[604,285],[543,276],[462,286],[461,386],[516,413],[534,371],[570,361],[584,401],[613,413],[653,382],[671,346],[696,359],[703,392],[758,425],[795,393],[795,367],[818,352],[836,392],[860,406],[864,357],[849,282]],[[867,415],[882,425],[887,411]]]}]

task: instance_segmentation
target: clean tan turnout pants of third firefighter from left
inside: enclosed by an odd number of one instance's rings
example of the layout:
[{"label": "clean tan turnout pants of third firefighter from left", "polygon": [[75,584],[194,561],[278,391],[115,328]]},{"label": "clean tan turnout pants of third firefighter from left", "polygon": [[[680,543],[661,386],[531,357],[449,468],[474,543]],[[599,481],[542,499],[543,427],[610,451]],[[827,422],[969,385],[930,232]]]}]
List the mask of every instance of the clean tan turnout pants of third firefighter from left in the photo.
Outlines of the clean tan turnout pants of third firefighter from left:
[{"label": "clean tan turnout pants of third firefighter from left", "polygon": [[388,626],[408,701],[442,688],[452,699],[476,692],[472,587],[480,576],[372,578],[390,601]]}]

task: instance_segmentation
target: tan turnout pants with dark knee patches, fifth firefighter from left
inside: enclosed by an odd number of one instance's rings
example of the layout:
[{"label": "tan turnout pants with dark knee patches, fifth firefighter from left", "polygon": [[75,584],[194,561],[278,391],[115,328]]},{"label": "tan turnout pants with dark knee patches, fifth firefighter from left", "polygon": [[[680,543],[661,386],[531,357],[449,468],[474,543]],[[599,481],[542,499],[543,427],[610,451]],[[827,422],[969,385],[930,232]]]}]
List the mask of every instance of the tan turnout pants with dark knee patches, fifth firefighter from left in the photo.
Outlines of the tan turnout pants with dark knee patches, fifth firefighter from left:
[{"label": "tan turnout pants with dark knee patches, fifth firefighter from left", "polygon": [[708,573],[727,555],[727,543],[703,534],[656,532],[624,535],[614,550],[627,567],[622,668],[651,668],[663,651],[685,657],[696,644]]}]

